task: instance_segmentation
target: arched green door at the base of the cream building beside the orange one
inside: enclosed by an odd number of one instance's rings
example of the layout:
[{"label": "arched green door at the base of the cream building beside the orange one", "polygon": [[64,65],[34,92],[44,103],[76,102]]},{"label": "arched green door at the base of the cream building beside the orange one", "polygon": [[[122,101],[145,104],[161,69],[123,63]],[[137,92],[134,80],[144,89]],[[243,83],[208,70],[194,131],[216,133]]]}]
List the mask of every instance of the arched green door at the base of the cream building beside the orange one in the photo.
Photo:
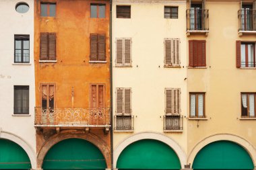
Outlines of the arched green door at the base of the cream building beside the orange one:
[{"label": "arched green door at the base of the cream building beside the orange one", "polygon": [[127,146],[117,160],[120,169],[181,169],[177,154],[158,140],[138,140]]}]

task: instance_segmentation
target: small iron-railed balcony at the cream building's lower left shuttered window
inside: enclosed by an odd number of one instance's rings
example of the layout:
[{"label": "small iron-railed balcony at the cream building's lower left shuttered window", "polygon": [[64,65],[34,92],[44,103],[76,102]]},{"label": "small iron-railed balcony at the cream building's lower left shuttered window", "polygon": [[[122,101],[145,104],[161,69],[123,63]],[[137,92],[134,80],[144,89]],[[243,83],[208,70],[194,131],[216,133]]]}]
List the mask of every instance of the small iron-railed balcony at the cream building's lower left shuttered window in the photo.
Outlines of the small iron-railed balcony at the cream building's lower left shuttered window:
[{"label": "small iron-railed balcony at the cream building's lower left shuttered window", "polygon": [[133,132],[133,116],[115,116],[114,117],[116,132]]}]

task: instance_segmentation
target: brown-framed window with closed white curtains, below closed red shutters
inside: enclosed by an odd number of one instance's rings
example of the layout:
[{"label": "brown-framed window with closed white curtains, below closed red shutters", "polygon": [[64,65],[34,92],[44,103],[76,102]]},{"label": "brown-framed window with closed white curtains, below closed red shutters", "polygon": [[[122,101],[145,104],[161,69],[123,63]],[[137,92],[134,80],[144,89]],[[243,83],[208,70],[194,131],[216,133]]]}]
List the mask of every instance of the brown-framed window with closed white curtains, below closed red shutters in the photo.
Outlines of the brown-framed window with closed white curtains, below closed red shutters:
[{"label": "brown-framed window with closed white curtains, below closed red shutters", "polygon": [[205,93],[189,93],[190,118],[205,118]]}]

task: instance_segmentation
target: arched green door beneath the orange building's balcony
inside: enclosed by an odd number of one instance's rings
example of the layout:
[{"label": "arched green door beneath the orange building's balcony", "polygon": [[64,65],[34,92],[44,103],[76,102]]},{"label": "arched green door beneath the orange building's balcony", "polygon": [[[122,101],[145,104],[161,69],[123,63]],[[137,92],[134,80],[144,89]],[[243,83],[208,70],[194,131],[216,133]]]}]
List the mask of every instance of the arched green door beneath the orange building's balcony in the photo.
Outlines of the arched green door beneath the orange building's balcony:
[{"label": "arched green door beneath the orange building's balcony", "polygon": [[105,169],[106,161],[91,142],[79,138],[62,140],[44,157],[42,169]]}]

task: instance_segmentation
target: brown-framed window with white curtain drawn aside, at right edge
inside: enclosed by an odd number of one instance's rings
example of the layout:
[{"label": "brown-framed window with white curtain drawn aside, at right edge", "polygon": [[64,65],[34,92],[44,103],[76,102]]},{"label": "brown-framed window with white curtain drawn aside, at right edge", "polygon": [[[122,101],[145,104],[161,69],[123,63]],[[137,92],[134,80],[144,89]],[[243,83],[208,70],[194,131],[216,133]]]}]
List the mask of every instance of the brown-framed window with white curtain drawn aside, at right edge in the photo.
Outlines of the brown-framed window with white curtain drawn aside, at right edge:
[{"label": "brown-framed window with white curtain drawn aside, at right edge", "polygon": [[255,118],[255,95],[256,93],[241,93],[241,116]]}]

